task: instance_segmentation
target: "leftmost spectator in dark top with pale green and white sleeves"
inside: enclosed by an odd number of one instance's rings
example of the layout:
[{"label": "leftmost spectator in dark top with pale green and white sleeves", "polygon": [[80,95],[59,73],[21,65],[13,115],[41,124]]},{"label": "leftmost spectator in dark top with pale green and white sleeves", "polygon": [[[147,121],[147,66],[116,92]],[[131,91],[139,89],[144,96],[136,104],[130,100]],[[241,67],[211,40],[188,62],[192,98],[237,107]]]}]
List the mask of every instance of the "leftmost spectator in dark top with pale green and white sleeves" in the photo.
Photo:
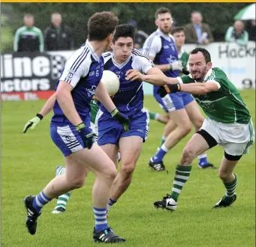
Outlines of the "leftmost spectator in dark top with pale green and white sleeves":
[{"label": "leftmost spectator in dark top with pale green and white sleeves", "polygon": [[14,36],[14,52],[44,52],[44,37],[42,31],[34,26],[32,14],[26,14],[23,27],[17,29]]}]

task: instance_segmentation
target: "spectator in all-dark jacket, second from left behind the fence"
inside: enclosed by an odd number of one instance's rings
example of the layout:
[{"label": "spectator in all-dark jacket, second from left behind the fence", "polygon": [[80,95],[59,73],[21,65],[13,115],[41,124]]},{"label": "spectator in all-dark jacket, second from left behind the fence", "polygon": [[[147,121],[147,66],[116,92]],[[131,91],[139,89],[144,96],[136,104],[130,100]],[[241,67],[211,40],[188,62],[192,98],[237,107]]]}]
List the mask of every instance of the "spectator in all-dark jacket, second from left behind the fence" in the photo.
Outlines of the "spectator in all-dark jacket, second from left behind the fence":
[{"label": "spectator in all-dark jacket, second from left behind the fence", "polygon": [[62,15],[53,13],[51,24],[44,31],[45,49],[47,51],[59,51],[74,49],[74,39],[71,28],[62,24]]}]

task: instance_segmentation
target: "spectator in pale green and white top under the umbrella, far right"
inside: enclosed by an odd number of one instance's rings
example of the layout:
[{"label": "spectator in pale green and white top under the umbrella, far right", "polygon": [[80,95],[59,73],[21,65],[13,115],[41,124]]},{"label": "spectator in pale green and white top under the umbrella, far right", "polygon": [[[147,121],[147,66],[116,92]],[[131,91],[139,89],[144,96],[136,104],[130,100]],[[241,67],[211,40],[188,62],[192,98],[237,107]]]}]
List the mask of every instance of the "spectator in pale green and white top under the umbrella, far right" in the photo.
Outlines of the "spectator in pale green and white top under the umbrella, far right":
[{"label": "spectator in pale green and white top under the umbrella, far right", "polygon": [[227,28],[225,41],[236,42],[240,46],[245,46],[248,43],[248,32],[245,31],[245,25],[241,20],[236,20],[233,26]]}]

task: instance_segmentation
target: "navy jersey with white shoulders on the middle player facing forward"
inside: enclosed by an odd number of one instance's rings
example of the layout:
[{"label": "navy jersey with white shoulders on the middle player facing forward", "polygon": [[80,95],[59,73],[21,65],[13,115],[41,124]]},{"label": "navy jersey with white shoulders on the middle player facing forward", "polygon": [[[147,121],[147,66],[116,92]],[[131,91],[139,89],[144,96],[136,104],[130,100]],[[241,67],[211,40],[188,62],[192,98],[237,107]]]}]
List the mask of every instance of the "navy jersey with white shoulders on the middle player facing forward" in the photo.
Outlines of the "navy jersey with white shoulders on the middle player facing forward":
[{"label": "navy jersey with white shoulders on the middle player facing forward", "polygon": [[[136,80],[131,82],[125,79],[128,70],[139,70],[140,73],[147,73],[154,64],[149,58],[142,55],[137,49],[133,49],[131,56],[123,63],[116,64],[113,52],[103,54],[104,70],[110,70],[119,77],[119,91],[113,97],[113,103],[120,112],[125,115],[133,115],[137,110],[143,109],[143,87],[142,82]],[[101,105],[101,111],[107,113],[107,109]]]}]

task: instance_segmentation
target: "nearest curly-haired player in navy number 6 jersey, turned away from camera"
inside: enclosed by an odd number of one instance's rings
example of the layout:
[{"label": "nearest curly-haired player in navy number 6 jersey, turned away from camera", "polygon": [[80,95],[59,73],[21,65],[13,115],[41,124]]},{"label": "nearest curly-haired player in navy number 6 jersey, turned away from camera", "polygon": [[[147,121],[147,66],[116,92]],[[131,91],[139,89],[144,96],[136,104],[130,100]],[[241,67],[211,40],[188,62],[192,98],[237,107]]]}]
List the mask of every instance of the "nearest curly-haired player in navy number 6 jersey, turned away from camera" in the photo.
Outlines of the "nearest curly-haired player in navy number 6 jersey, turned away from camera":
[{"label": "nearest curly-haired player in navy number 6 jersey, turned away from camera", "polygon": [[66,174],[50,181],[37,196],[29,195],[24,199],[26,227],[32,235],[36,232],[42,207],[53,198],[83,186],[90,170],[96,175],[92,189],[93,239],[102,243],[125,242],[107,224],[107,201],[116,167],[101,147],[94,144],[92,129],[89,128],[89,103],[94,94],[110,112],[114,124],[120,123],[126,129],[130,124],[128,118],[116,109],[101,82],[104,70],[101,54],[111,43],[117,22],[117,17],[111,12],[95,13],[88,22],[88,40],[68,59],[57,82],[50,134],[65,156]]}]

